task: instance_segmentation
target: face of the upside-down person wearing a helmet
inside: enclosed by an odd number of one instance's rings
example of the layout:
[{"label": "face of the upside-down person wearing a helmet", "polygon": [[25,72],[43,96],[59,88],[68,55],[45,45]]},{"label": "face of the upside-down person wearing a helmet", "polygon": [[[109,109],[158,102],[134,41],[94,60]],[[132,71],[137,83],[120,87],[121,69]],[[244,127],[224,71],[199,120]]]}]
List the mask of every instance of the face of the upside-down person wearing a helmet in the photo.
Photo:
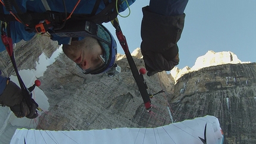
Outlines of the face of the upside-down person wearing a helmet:
[{"label": "face of the upside-down person wearing a helmet", "polygon": [[103,52],[99,44],[92,45],[90,48],[86,45],[63,46],[63,51],[68,58],[80,65],[83,70],[88,70],[89,68],[94,70],[103,64],[100,57]]}]

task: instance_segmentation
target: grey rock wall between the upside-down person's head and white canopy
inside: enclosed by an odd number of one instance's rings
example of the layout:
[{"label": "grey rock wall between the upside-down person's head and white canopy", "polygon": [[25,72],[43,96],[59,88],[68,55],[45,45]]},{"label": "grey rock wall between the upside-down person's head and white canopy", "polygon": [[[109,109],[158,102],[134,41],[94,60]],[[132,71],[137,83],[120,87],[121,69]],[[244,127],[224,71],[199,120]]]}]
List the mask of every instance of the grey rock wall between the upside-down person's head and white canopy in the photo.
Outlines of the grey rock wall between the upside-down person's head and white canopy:
[{"label": "grey rock wall between the upside-down person's head and white canopy", "polygon": [[[158,116],[146,112],[126,61],[123,59],[117,62],[122,72],[114,77],[106,74],[85,75],[64,54],[61,55],[48,67],[45,77],[40,77],[40,88],[49,98],[50,114],[42,115],[38,129],[90,130],[155,127],[170,123],[167,101],[163,95],[152,99],[155,105],[152,111]],[[135,59],[135,62],[139,68],[143,66],[141,59]],[[50,74],[54,74],[54,77]],[[164,79],[162,84],[160,79]],[[165,89],[164,95],[170,95],[170,80],[166,73],[151,79],[145,77],[145,80],[149,92],[157,93]]]}]

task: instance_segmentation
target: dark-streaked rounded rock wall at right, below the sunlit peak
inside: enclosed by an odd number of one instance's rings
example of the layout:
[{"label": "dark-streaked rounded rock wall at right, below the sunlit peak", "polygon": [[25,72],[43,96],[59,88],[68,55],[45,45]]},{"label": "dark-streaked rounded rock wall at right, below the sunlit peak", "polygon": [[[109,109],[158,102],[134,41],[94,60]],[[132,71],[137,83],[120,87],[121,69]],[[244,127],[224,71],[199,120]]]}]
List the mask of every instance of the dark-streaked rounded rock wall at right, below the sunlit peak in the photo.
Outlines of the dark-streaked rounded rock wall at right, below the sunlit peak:
[{"label": "dark-streaked rounded rock wall at right, below the sunlit peak", "polygon": [[224,64],[185,74],[174,88],[177,121],[214,115],[225,143],[256,143],[256,63]]}]

